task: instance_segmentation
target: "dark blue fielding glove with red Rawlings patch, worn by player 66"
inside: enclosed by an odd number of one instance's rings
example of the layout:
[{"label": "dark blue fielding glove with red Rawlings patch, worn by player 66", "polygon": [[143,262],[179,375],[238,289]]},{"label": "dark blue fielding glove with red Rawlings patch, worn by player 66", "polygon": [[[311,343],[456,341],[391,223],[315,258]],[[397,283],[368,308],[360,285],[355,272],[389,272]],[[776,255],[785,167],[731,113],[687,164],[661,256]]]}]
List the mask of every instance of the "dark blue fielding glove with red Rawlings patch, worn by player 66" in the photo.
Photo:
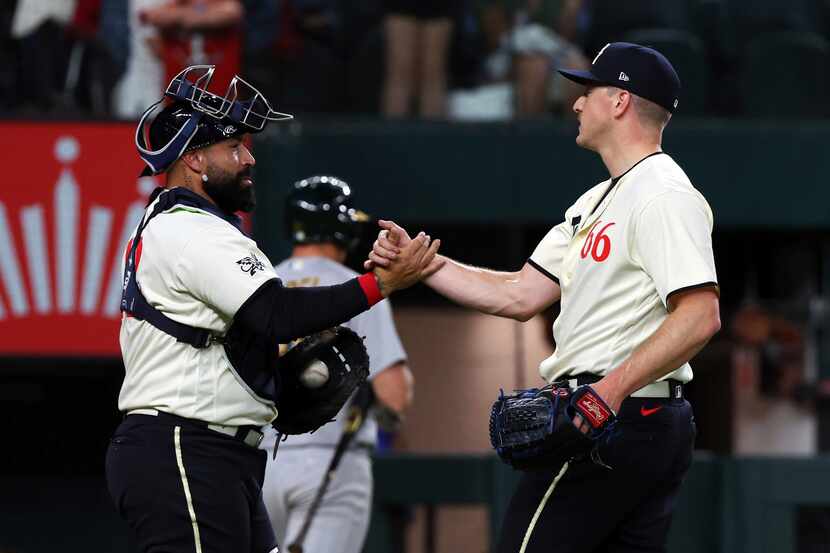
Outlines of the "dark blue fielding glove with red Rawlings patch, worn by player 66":
[{"label": "dark blue fielding glove with red Rawlings patch, worn by player 66", "polygon": [[[572,420],[591,426],[583,434]],[[519,470],[551,470],[581,458],[615,421],[614,412],[590,386],[575,391],[556,384],[499,393],[490,411],[490,442],[501,459]]]}]

